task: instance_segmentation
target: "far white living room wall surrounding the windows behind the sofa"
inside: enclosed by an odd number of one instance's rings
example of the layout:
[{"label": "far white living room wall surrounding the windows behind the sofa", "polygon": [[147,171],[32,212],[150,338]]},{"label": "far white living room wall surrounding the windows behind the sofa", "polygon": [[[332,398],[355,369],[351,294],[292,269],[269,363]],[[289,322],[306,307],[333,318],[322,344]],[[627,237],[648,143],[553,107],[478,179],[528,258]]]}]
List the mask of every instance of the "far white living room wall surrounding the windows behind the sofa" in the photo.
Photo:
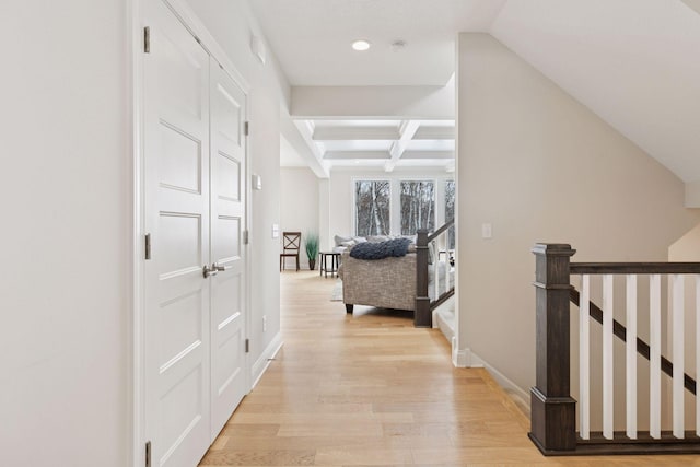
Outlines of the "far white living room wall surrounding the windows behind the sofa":
[{"label": "far white living room wall surrounding the windows behind the sofa", "polygon": [[[334,170],[329,179],[329,202],[328,202],[328,232],[329,243],[323,245],[324,248],[332,246],[334,235],[354,235],[353,215],[354,215],[354,186],[355,178],[366,179],[388,179],[393,184],[398,184],[402,179],[434,179],[438,182],[436,196],[444,194],[442,186],[444,180],[454,179],[454,174],[445,171],[427,171],[424,168],[397,168],[394,172],[386,173],[384,170]],[[444,196],[444,195],[442,195]],[[390,229],[392,233],[398,234],[400,224],[398,223],[398,198],[393,198],[396,202],[394,207]],[[396,215],[394,215],[396,214]],[[443,223],[442,212],[438,212],[435,222],[440,226]]]}]

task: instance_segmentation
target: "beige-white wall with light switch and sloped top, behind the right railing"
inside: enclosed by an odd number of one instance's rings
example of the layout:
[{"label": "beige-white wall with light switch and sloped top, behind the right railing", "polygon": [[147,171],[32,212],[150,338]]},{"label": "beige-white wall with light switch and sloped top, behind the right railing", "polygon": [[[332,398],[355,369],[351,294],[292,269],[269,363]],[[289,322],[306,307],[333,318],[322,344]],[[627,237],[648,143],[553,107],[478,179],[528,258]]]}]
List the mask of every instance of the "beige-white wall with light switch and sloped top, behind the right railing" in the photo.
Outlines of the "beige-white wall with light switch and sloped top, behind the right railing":
[{"label": "beige-white wall with light switch and sloped top, behind the right railing", "polygon": [[699,217],[679,178],[493,37],[460,34],[457,55],[458,347],[527,390],[533,245],[663,261]]}]

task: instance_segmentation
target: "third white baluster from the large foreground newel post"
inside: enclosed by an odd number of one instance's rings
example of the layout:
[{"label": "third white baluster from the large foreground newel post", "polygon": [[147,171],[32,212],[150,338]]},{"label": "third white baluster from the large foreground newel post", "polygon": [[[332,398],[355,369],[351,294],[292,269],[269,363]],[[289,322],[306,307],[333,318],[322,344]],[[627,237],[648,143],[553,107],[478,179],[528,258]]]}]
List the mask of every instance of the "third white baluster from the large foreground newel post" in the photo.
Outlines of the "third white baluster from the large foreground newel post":
[{"label": "third white baluster from the large foreground newel post", "polygon": [[637,275],[627,275],[627,437],[637,440]]}]

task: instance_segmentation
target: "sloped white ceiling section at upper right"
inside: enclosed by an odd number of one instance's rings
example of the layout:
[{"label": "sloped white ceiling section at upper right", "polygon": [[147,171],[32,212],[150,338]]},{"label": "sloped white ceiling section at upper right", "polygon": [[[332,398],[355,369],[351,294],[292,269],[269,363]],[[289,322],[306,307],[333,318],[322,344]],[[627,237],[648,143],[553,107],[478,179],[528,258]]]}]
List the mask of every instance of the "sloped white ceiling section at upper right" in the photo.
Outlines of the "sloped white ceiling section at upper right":
[{"label": "sloped white ceiling section at upper right", "polygon": [[678,177],[700,179],[700,14],[686,3],[511,0],[490,33]]}]

